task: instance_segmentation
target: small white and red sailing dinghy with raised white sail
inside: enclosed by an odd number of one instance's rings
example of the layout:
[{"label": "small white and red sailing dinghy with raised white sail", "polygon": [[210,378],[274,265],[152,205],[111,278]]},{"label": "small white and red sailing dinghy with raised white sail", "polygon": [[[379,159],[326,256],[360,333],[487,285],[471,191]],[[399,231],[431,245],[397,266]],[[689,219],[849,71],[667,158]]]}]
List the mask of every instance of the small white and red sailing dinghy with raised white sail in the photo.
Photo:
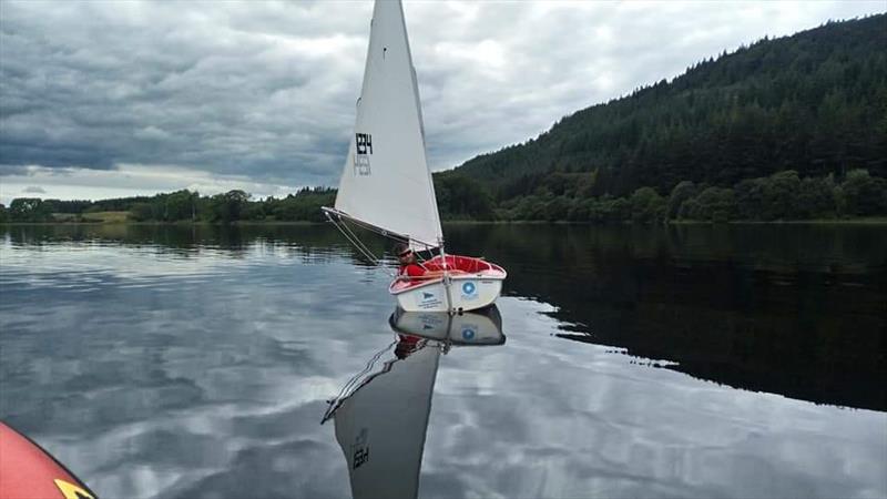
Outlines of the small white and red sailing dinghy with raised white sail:
[{"label": "small white and red sailing dinghy with raised white sail", "polygon": [[353,140],[335,206],[323,211],[369,259],[379,262],[349,224],[429,257],[420,263],[427,276],[396,276],[388,287],[405,310],[473,310],[502,291],[502,267],[445,252],[400,0],[376,0]]}]

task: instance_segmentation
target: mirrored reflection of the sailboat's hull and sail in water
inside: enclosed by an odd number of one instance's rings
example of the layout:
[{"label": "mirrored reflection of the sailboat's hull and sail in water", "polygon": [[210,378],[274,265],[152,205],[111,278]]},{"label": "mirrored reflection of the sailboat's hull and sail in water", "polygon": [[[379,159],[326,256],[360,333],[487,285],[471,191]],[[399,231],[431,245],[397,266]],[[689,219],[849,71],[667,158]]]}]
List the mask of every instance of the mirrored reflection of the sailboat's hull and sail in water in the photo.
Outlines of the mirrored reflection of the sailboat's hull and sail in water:
[{"label": "mirrored reflection of the sailboat's hull and sail in water", "polygon": [[397,339],[369,359],[324,416],[335,422],[355,499],[417,496],[440,354],[506,342],[496,306],[452,316],[398,308],[389,324]]}]

